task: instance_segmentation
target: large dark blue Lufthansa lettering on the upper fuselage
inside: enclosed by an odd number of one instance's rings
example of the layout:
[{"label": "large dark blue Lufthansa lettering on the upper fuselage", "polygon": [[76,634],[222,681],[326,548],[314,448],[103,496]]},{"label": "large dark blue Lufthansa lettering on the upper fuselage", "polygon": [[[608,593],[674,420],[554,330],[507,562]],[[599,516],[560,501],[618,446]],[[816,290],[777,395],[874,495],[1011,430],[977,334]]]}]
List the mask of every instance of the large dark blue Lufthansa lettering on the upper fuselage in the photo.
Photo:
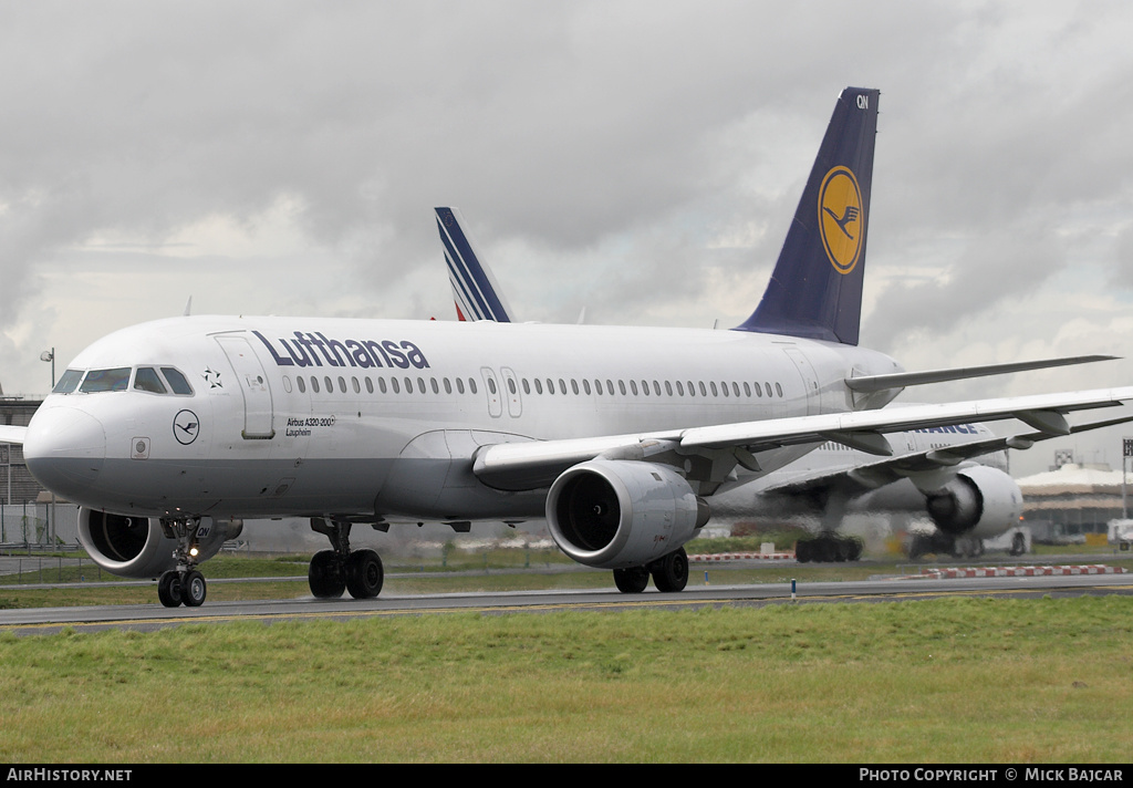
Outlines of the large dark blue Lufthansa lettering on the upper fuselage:
[{"label": "large dark blue Lufthansa lettering on the upper fuselage", "polygon": [[264,344],[279,366],[389,366],[426,370],[425,354],[410,341],[393,339],[327,339],[323,333],[295,331],[295,339],[279,338],[273,345],[258,331],[252,333]]}]

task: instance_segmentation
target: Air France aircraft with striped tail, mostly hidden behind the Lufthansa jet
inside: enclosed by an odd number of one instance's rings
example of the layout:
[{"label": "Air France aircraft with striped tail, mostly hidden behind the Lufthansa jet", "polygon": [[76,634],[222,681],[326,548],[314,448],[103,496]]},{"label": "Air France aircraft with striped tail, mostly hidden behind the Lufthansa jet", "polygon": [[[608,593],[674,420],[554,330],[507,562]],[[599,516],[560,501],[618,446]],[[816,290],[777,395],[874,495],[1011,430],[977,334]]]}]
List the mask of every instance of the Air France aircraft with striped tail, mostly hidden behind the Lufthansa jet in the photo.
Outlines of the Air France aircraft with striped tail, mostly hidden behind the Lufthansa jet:
[{"label": "Air France aircraft with striped tail, mostly hidden behind the Lufthansa jet", "polygon": [[[434,213],[458,319],[513,322],[514,312],[477,251],[461,212],[436,207]],[[1057,362],[1040,362],[1053,363]],[[1126,421],[1133,416],[1079,425],[1072,431]],[[889,435],[894,456],[884,459],[827,441],[778,471],[716,493],[712,511],[714,517],[733,519],[820,517],[820,533],[796,545],[801,562],[854,561],[861,557],[861,540],[837,533],[850,511],[928,515],[936,531],[911,540],[910,557],[925,552],[978,556],[985,540],[1007,533],[1021,518],[1022,491],[1007,473],[1007,448],[1022,449],[1055,437],[1028,432],[998,438],[979,423],[926,427]],[[1023,549],[1025,541],[1016,533],[1011,550],[1019,554]]]}]

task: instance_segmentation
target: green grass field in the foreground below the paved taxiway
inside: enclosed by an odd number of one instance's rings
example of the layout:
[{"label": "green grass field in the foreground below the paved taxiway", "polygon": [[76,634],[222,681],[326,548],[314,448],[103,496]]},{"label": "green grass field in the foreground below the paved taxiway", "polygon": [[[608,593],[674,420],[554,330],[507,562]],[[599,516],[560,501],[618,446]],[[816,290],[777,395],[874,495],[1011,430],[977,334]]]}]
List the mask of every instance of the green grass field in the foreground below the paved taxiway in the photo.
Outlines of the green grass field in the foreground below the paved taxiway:
[{"label": "green grass field in the foreground below the paved taxiway", "polygon": [[8,762],[1125,763],[1133,600],[0,634]]}]

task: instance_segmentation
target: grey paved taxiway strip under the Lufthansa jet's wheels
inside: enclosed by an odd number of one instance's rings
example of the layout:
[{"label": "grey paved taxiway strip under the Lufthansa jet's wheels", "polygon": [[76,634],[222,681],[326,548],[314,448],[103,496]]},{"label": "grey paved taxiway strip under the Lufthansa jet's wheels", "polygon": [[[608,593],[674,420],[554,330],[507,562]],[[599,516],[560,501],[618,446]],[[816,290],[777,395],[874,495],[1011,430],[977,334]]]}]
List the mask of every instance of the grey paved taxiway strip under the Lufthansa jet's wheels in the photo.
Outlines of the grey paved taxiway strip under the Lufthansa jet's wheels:
[{"label": "grey paved taxiway strip under the Lufthansa jet's wheels", "polygon": [[[695,581],[695,576],[692,578]],[[818,604],[833,602],[915,601],[955,595],[1025,599],[1033,596],[1133,595],[1133,574],[1031,577],[888,578],[836,583],[790,583],[698,586],[663,594],[650,586],[641,594],[600,591],[521,591],[458,594],[383,594],[374,600],[290,600],[208,602],[199,608],[153,604],[90,608],[0,610],[0,632],[51,634],[63,628],[154,630],[185,624],[349,619],[374,616],[427,616],[457,611],[488,615],[540,613],[562,610],[620,611],[630,609],[692,609],[723,605]]]}]

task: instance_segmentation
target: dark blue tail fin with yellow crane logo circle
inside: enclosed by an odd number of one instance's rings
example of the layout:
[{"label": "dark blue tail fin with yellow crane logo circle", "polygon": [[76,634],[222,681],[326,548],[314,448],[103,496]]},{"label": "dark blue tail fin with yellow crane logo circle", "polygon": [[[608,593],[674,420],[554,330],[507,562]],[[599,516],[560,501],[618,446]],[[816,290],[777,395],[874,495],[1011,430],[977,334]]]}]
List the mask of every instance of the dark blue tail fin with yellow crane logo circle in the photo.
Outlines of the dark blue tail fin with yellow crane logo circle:
[{"label": "dark blue tail fin with yellow crane logo circle", "polygon": [[838,95],[772,280],[735,330],[858,344],[879,95]]}]

